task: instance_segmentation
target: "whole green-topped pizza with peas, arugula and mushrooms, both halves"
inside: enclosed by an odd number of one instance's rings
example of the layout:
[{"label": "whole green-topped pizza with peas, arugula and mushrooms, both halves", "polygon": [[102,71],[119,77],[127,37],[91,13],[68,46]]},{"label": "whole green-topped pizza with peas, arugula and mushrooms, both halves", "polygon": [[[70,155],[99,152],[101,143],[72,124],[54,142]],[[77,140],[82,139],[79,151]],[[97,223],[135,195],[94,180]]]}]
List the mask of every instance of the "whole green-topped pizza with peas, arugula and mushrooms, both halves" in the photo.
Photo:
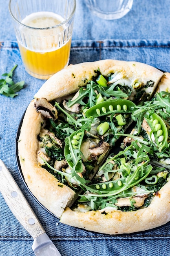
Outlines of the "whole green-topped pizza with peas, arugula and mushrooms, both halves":
[{"label": "whole green-topped pizza with peas, arugula and mushrooms, both halves", "polygon": [[26,109],[18,157],[60,222],[128,234],[170,221],[170,74],[139,62],[69,65]]}]

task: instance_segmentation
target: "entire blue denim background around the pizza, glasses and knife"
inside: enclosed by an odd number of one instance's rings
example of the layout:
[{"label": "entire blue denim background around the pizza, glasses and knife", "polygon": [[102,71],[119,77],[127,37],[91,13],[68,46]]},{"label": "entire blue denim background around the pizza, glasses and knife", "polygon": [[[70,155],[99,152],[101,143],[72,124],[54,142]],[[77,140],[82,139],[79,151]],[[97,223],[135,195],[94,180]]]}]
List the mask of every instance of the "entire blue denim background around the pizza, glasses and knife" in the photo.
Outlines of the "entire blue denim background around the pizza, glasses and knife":
[{"label": "entire blue denim background around the pizza, glasses and knife", "polygon": [[[96,234],[59,223],[27,191],[15,160],[15,137],[24,110],[44,81],[24,70],[6,0],[0,0],[0,24],[0,74],[16,63],[14,80],[25,81],[14,99],[0,95],[0,158],[62,256],[169,256],[169,225],[141,234]],[[84,1],[77,0],[70,63],[106,58],[140,61],[170,72],[170,1],[134,0],[124,18],[107,21],[93,16]],[[0,256],[32,256],[32,243],[0,194]]]}]

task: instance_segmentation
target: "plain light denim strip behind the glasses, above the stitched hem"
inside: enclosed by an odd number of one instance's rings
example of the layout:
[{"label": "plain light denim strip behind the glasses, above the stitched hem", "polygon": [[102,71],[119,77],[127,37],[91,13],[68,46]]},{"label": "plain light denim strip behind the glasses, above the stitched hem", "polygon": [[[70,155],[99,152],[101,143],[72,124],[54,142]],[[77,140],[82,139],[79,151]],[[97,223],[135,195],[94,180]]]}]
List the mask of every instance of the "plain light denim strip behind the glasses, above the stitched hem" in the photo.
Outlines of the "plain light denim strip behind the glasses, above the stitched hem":
[{"label": "plain light denim strip behind the glasses, above the stitched hem", "polygon": [[[0,40],[15,40],[8,1],[0,0]],[[134,0],[128,14],[118,20],[102,20],[91,13],[84,0],[77,0],[73,40],[168,39],[169,36],[169,0]]]}]

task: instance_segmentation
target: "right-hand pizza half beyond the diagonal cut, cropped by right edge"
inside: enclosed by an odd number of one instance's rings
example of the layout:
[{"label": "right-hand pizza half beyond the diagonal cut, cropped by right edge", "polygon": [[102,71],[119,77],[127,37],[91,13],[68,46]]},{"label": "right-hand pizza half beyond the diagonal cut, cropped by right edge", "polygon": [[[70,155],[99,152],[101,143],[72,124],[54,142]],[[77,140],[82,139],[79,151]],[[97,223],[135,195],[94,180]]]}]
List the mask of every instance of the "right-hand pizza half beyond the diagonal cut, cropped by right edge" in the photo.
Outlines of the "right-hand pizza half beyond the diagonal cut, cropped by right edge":
[{"label": "right-hand pizza half beyond the diagonal cut, cropped by right edge", "polygon": [[136,126],[129,135],[119,133],[126,136],[123,150],[106,159],[78,203],[64,211],[61,222],[71,225],[76,219],[75,225],[89,229],[92,221],[93,231],[122,234],[170,221],[170,93],[166,86],[166,92],[161,91],[161,81],[152,100],[134,108]]}]

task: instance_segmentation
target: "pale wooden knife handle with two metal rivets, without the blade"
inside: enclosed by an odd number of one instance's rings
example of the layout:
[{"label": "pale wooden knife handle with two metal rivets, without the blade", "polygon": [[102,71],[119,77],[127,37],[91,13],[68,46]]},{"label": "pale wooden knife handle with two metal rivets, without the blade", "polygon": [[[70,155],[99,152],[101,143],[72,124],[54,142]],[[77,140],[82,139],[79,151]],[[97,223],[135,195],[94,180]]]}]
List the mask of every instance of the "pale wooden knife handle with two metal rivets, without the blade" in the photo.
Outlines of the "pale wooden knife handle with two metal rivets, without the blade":
[{"label": "pale wooden knife handle with two metal rivets, without the blade", "polygon": [[33,239],[45,233],[38,218],[2,160],[0,160],[0,192],[13,215]]}]

